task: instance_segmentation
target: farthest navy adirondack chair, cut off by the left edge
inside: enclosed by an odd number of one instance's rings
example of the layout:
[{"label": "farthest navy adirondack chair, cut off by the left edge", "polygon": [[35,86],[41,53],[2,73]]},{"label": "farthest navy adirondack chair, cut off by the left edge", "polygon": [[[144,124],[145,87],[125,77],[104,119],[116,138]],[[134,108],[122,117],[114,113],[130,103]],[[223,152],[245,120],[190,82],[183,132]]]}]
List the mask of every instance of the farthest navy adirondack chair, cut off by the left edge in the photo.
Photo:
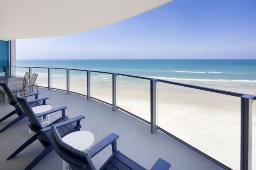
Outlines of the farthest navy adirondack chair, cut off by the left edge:
[{"label": "farthest navy adirondack chair, cut off by the left edge", "polygon": [[[18,117],[16,119],[14,119],[12,122],[10,122],[8,125],[6,125],[5,127],[3,127],[3,129],[0,130],[0,133],[1,133],[1,132],[5,131],[6,129],[8,129],[9,127],[11,127],[12,125],[14,125],[15,123],[17,123],[20,120],[22,120],[23,118],[25,118],[27,115],[23,111],[23,109],[20,107],[20,104],[15,101],[15,97],[12,95],[13,93],[10,91],[7,84],[1,82],[0,86],[3,87],[3,90],[5,91],[6,95],[8,96],[9,104],[14,106],[14,108],[15,108],[14,111],[12,111],[11,113],[7,114],[2,119],[0,119],[0,122],[3,122],[5,119],[11,117],[14,114],[18,115]],[[46,100],[49,99],[49,98],[44,97],[44,98],[38,99],[38,94],[39,93],[33,93],[33,94],[25,95],[25,96],[22,96],[22,97],[25,98],[25,97],[28,97],[28,96],[35,96],[35,100],[31,100],[31,101],[28,102],[31,107],[46,105]]]}]

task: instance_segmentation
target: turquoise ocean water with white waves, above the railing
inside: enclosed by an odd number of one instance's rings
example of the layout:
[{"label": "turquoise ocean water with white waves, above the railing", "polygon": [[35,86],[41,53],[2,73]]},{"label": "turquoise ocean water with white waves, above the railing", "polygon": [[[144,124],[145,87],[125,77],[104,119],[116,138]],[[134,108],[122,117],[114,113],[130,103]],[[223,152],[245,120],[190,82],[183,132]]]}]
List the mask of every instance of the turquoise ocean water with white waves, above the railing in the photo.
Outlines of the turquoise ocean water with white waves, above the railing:
[{"label": "turquoise ocean water with white waves, above the railing", "polygon": [[17,66],[107,71],[240,91],[256,88],[256,59],[17,60]]}]

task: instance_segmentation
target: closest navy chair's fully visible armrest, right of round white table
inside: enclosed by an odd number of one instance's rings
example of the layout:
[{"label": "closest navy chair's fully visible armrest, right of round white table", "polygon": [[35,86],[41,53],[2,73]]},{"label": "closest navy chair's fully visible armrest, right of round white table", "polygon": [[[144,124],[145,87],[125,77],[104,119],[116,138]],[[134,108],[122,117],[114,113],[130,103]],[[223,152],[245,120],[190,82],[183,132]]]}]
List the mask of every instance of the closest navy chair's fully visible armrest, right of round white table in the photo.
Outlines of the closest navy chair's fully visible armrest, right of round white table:
[{"label": "closest navy chair's fully visible armrest, right of round white table", "polygon": [[92,158],[95,156],[97,153],[105,149],[108,145],[112,144],[112,151],[116,151],[116,139],[119,138],[118,135],[115,133],[111,133],[104,139],[102,139],[99,143],[95,144],[93,147],[91,147],[89,150],[86,152],[89,154],[89,156]]}]

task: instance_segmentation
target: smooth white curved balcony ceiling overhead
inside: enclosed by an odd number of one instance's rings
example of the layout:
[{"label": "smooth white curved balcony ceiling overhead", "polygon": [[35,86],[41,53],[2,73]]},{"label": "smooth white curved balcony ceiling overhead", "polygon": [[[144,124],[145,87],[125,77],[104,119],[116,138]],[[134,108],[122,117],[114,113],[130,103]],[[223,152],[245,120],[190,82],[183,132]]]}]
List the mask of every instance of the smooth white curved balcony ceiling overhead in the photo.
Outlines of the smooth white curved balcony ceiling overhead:
[{"label": "smooth white curved balcony ceiling overhead", "polygon": [[1,0],[0,39],[53,37],[134,17],[171,0]]}]

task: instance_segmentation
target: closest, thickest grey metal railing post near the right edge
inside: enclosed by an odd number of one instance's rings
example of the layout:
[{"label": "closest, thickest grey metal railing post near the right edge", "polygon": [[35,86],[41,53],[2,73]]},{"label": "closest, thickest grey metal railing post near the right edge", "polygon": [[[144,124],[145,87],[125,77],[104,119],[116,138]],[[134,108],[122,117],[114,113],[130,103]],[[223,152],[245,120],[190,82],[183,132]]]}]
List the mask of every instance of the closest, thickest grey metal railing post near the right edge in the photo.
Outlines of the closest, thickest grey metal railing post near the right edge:
[{"label": "closest, thickest grey metal railing post near the right edge", "polygon": [[241,170],[252,169],[252,104],[254,96],[241,96]]}]

